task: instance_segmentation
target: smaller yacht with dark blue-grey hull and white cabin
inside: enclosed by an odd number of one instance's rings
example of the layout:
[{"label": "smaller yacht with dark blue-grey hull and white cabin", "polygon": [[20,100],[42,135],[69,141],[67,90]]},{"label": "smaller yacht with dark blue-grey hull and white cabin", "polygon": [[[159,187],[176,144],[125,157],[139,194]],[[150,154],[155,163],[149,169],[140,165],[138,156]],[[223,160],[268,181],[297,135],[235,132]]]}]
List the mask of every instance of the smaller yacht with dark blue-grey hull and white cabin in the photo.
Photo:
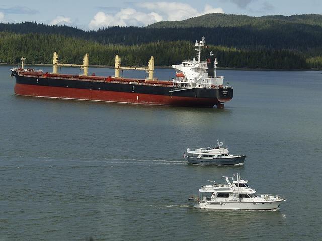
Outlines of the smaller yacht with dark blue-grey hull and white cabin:
[{"label": "smaller yacht with dark blue-grey hull and white cabin", "polygon": [[187,160],[193,164],[206,165],[234,165],[243,163],[245,155],[232,155],[229,153],[227,147],[222,147],[224,142],[217,140],[218,146],[214,148],[187,148]]}]

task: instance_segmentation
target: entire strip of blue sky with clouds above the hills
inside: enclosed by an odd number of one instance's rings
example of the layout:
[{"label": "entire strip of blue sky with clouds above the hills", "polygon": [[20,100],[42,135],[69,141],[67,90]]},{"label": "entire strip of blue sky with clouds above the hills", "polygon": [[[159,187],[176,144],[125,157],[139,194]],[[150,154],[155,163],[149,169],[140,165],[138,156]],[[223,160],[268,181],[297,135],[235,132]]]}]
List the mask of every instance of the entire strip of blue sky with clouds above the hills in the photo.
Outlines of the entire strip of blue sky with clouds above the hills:
[{"label": "entire strip of blue sky with clouds above the hills", "polygon": [[1,1],[0,22],[35,21],[65,24],[81,29],[113,25],[146,26],[164,20],[183,20],[206,13],[250,16],[322,14],[321,0],[195,0],[195,1],[98,1],[29,0]]}]

